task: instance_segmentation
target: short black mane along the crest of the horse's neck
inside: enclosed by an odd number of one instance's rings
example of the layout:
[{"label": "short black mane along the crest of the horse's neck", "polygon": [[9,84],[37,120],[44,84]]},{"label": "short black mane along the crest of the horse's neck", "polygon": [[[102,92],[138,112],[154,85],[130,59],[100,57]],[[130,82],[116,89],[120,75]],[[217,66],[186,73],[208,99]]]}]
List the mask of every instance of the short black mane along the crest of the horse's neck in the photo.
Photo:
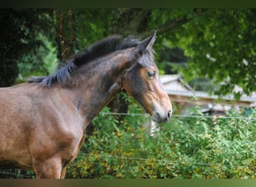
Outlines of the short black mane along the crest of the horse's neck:
[{"label": "short black mane along the crest of the horse's neck", "polygon": [[122,40],[121,36],[106,37],[103,40],[88,46],[84,51],[73,55],[67,65],[56,70],[50,76],[31,77],[28,79],[28,83],[39,82],[42,86],[50,87],[52,84],[64,84],[67,79],[70,78],[71,73],[83,64],[87,64],[90,61],[94,61],[97,58],[102,58],[105,55],[109,55],[112,52],[116,52],[121,49],[128,49],[130,47],[137,46],[139,40],[133,37],[127,37]]}]

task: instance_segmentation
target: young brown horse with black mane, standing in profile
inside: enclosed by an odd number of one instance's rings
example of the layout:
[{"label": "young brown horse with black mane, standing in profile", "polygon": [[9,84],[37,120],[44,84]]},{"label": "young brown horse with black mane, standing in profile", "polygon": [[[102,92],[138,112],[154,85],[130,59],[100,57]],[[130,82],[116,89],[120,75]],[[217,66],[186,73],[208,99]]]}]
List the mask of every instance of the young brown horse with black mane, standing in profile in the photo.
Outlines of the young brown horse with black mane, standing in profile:
[{"label": "young brown horse with black mane, standing in profile", "polygon": [[0,88],[0,165],[64,178],[85,140],[85,128],[115,95],[127,91],[156,122],[171,102],[153,58],[156,33],[139,41],[107,37],[73,56],[51,76]]}]

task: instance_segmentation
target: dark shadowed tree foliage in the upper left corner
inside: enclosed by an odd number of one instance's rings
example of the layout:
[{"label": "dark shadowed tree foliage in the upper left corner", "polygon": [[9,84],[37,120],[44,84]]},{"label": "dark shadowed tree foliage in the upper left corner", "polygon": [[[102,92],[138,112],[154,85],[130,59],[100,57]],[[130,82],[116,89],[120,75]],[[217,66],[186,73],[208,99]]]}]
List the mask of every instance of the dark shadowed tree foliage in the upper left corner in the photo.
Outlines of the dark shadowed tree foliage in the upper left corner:
[{"label": "dark shadowed tree foliage in the upper left corner", "polygon": [[19,73],[18,62],[34,55],[42,45],[38,38],[40,31],[47,31],[49,37],[49,12],[39,9],[1,10],[0,87],[13,85]]}]

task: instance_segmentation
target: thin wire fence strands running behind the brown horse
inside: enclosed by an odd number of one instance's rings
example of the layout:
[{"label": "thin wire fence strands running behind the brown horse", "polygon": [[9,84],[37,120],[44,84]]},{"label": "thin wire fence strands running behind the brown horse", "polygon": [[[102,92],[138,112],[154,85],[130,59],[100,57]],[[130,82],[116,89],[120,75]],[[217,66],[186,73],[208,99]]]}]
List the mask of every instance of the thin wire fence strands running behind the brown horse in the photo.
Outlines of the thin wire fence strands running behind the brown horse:
[{"label": "thin wire fence strands running behind the brown horse", "polygon": [[[115,113],[115,112],[100,112],[100,115],[130,115],[130,116],[144,116],[144,117],[150,117],[149,114],[131,114],[131,113]],[[245,116],[209,116],[209,115],[189,115],[189,114],[173,114],[171,117],[198,117],[198,118],[212,118],[212,119],[240,119],[240,120],[255,120],[256,117],[245,117]],[[256,125],[256,123],[255,123]],[[139,157],[129,157],[129,156],[112,156],[112,155],[102,155],[102,154],[89,154],[89,153],[79,153],[80,156],[100,156],[102,158],[112,158],[112,159],[129,159],[129,160],[136,160],[139,162],[168,162],[171,164],[180,164],[180,165],[205,165],[205,166],[214,166],[214,167],[232,167],[232,168],[252,168],[256,169],[256,167],[250,167],[248,165],[223,165],[222,163],[204,163],[204,162],[177,162],[177,161],[171,161],[168,159],[147,159],[147,158],[139,158]],[[21,174],[20,170],[14,169],[14,170],[4,170],[0,169],[0,178],[2,175],[10,176],[10,178],[31,178],[35,177],[33,175],[26,175]]]}]

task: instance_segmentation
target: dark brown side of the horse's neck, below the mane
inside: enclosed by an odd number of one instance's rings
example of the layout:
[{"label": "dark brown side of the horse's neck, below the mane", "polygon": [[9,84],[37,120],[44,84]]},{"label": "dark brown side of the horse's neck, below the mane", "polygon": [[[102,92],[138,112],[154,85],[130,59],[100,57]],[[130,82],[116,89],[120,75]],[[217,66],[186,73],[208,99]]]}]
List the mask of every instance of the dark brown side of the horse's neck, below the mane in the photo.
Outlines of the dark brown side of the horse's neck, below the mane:
[{"label": "dark brown side of the horse's neck, below the mane", "polygon": [[76,89],[71,88],[70,91],[74,105],[85,118],[85,125],[121,91],[122,63],[124,61],[117,58],[80,67]]}]

